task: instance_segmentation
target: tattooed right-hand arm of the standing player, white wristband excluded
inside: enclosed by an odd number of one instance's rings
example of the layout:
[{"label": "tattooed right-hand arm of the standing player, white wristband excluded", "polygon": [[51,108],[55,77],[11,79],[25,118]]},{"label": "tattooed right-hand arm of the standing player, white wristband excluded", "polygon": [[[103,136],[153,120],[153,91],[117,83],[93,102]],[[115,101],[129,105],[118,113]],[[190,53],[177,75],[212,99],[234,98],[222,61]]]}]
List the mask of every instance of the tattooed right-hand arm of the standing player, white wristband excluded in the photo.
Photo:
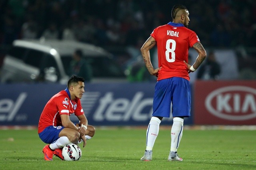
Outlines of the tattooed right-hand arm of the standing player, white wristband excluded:
[{"label": "tattooed right-hand arm of the standing player, white wristband excluded", "polygon": [[[197,69],[203,63],[204,59],[206,58],[206,51],[200,42],[195,43],[193,45],[193,48],[198,53],[198,57],[196,58],[196,62],[192,66],[194,69]],[[186,62],[184,61],[184,63],[186,63]],[[194,72],[193,70],[190,70],[191,66],[188,63],[186,63],[186,65],[188,66],[188,69],[189,69],[188,72]]]}]

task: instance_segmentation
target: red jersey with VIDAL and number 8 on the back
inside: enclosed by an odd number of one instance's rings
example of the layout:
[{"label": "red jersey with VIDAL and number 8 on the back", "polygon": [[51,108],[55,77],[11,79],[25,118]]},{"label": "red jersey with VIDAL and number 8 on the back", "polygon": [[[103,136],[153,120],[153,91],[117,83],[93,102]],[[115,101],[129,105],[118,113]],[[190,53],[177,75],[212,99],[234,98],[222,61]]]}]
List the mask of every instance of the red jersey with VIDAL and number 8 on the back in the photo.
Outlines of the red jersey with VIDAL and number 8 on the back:
[{"label": "red jersey with VIDAL and number 8 on the back", "polygon": [[168,23],[154,29],[151,36],[156,40],[158,50],[158,79],[182,77],[189,80],[188,49],[200,42],[196,33],[181,23]]}]

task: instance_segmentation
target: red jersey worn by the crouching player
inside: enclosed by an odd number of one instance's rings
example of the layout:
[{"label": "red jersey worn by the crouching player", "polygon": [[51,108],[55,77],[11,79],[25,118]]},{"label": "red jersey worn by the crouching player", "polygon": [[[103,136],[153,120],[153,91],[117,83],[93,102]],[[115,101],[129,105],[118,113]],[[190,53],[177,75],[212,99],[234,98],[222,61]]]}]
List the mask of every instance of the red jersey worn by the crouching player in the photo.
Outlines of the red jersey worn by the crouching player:
[{"label": "red jersey worn by the crouching player", "polygon": [[46,104],[39,119],[38,133],[48,126],[62,126],[60,115],[84,114],[80,99],[70,100],[69,90],[55,94]]}]

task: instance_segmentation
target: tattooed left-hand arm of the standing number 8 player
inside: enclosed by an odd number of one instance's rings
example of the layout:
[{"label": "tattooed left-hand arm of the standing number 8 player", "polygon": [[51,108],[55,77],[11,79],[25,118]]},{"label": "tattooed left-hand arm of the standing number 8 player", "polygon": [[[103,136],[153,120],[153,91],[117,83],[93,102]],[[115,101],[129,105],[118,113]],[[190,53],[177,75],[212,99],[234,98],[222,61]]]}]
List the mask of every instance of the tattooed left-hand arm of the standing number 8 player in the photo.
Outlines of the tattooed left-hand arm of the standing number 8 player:
[{"label": "tattooed left-hand arm of the standing number 8 player", "polygon": [[157,76],[158,75],[158,70],[161,68],[156,68],[154,69],[151,61],[150,61],[150,53],[149,50],[152,49],[156,45],[156,40],[153,37],[149,37],[147,41],[143,44],[143,46],[140,49],[142,58],[144,60],[144,63],[146,64],[146,67],[148,69],[148,72],[151,75]]}]

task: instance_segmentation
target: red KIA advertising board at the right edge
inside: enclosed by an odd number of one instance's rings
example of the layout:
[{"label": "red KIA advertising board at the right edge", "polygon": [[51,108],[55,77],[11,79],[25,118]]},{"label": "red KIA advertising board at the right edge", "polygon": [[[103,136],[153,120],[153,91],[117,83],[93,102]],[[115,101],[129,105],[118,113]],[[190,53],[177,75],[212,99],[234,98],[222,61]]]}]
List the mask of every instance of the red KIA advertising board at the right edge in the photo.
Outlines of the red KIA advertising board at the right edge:
[{"label": "red KIA advertising board at the right edge", "polygon": [[194,123],[256,125],[256,81],[196,81]]}]

